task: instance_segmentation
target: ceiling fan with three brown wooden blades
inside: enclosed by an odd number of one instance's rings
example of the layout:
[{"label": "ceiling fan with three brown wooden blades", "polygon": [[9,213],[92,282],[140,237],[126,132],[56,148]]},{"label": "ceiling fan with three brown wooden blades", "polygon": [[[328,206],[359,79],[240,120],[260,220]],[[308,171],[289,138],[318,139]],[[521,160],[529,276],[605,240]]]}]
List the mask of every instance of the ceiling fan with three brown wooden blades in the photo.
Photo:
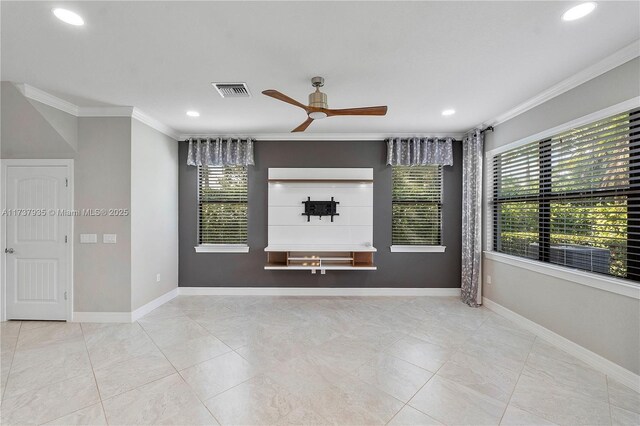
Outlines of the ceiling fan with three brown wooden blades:
[{"label": "ceiling fan with three brown wooden blades", "polygon": [[304,132],[313,120],[320,120],[335,115],[386,115],[387,113],[386,106],[330,109],[327,107],[327,94],[320,91],[320,88],[324,86],[324,78],[313,77],[311,79],[311,85],[316,88],[316,91],[309,94],[309,105],[301,104],[277,90],[269,89],[262,92],[263,95],[270,96],[305,110],[308,116],[307,119],[291,132]]}]

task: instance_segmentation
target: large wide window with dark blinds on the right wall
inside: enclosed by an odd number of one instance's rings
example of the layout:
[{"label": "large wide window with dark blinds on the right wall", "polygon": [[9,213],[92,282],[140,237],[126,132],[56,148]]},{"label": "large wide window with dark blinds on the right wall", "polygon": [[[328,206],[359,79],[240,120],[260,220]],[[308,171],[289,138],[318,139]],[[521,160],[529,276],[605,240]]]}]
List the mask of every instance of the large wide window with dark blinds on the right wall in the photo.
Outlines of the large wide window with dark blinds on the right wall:
[{"label": "large wide window with dark blinds on the right wall", "polygon": [[493,157],[493,249],[640,281],[640,109]]}]

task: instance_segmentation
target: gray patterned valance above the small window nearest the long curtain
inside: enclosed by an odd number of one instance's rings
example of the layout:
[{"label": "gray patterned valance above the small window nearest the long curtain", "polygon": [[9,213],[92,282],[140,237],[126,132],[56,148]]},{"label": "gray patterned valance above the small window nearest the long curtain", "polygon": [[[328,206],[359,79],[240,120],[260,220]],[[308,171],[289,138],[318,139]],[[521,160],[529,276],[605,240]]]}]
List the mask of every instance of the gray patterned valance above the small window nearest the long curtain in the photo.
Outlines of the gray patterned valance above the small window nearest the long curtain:
[{"label": "gray patterned valance above the small window nearest the long curtain", "polygon": [[453,138],[387,139],[387,164],[391,166],[453,166]]}]

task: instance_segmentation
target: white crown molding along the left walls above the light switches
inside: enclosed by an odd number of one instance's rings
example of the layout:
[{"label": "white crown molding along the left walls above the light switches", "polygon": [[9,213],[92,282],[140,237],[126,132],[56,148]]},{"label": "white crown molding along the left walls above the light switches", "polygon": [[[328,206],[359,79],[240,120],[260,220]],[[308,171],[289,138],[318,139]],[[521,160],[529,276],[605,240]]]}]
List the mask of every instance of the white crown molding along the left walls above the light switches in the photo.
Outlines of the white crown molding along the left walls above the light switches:
[{"label": "white crown molding along the left walls above the light switches", "polygon": [[132,106],[80,107],[26,83],[14,83],[14,85],[24,97],[59,109],[74,117],[131,117],[170,138],[177,140],[179,136],[178,132],[171,127]]}]

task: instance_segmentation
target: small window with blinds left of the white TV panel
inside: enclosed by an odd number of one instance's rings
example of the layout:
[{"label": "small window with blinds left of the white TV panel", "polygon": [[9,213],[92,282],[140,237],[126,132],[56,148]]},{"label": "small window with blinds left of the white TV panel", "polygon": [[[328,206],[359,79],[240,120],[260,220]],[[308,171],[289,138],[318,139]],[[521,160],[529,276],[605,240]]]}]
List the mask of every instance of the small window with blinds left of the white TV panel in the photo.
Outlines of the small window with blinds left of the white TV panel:
[{"label": "small window with blinds left of the white TV panel", "polygon": [[246,167],[198,167],[198,244],[247,244]]}]

